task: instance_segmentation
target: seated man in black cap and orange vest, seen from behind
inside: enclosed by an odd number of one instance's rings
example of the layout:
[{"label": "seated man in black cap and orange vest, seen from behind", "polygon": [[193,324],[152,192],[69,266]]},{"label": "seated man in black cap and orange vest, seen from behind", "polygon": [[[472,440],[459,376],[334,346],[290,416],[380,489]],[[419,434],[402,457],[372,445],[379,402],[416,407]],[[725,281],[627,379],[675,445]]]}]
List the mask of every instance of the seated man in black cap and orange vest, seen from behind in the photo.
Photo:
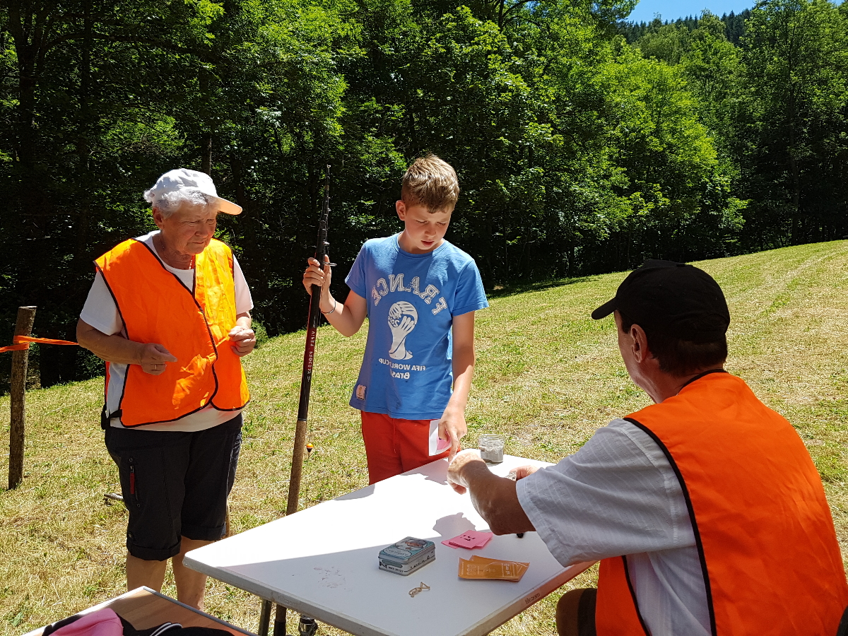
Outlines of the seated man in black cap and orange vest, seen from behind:
[{"label": "seated man in black cap and orange vest, seen from behind", "polygon": [[466,450],[449,483],[494,533],[536,530],[563,566],[601,561],[598,589],[557,605],[562,636],[835,634],[848,583],[821,480],[789,422],[723,370],[717,282],[649,260],[592,317],[610,314],[655,404],[516,481]]}]

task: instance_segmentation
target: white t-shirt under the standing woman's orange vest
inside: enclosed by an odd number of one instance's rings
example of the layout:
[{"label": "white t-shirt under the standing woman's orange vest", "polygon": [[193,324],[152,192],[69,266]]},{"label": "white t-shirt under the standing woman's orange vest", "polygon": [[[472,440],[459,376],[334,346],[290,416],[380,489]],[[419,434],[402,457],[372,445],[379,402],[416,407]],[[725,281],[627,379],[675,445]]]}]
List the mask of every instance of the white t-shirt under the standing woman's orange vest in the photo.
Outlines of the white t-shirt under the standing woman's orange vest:
[{"label": "white t-shirt under the standing woman's orange vest", "polygon": [[[156,246],[153,245],[153,237],[157,234],[159,234],[159,230],[150,232],[143,237],[138,237],[137,240],[142,241],[142,243],[147,245],[148,248],[151,248],[153,250],[153,254],[156,254],[158,257],[159,253],[156,251]],[[165,266],[167,271],[170,271],[179,278],[180,282],[182,282],[187,289],[192,289],[194,285],[194,270],[178,270],[170,265],[165,265],[164,261],[162,262],[162,265]],[[250,296],[248,282],[244,280],[242,268],[238,265],[235,255],[232,257],[232,270],[234,282],[236,284],[236,313],[243,314],[254,308],[254,301]],[[112,293],[109,292],[109,287],[106,287],[106,282],[103,281],[103,275],[99,271],[94,276],[94,282],[92,283],[92,288],[88,292],[88,298],[86,298],[86,304],[82,308],[80,318],[83,322],[93,326],[99,332],[103,332],[107,336],[124,332],[124,322],[120,319],[118,306],[114,303]],[[124,333],[124,335],[126,336],[126,333]],[[127,365],[118,365],[114,363],[109,365],[110,390],[107,392],[109,400],[106,404],[106,408],[109,410],[109,413],[114,413],[114,411],[118,410],[121,389],[124,386],[124,379],[126,378],[126,367]],[[212,404],[207,404],[204,409],[182,417],[177,421],[170,422],[169,424],[148,424],[146,426],[133,428],[141,428],[145,431],[203,431],[206,428],[216,427],[219,424],[223,424],[225,421],[232,420],[232,418],[237,416],[240,412],[240,410],[217,410],[212,406]],[[118,417],[112,418],[111,425],[117,428],[125,428],[120,423],[120,418]]]}]

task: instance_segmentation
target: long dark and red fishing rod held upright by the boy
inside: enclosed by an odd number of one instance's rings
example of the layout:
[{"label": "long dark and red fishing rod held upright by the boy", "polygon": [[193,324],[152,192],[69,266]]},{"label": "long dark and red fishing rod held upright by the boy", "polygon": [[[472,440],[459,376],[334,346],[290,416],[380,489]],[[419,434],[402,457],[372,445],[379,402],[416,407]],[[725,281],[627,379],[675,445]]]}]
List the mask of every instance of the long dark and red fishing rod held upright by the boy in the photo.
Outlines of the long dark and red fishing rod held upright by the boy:
[{"label": "long dark and red fishing rod held upright by the boy", "polygon": [[[324,180],[324,208],[318,221],[318,241],[315,243],[315,260],[324,267],[324,257],[328,253],[330,243],[326,242],[326,232],[330,219],[330,166],[326,166]],[[300,476],[304,469],[304,452],[306,450],[307,418],[310,412],[310,390],[312,388],[312,363],[315,361],[315,335],[318,323],[321,321],[321,287],[312,286],[310,296],[310,315],[306,323],[306,348],[304,349],[304,371],[300,376],[300,401],[298,403],[298,425],[294,429],[294,450],[292,453],[292,475],[288,481],[288,499],[286,515],[298,511],[300,497]]]}]

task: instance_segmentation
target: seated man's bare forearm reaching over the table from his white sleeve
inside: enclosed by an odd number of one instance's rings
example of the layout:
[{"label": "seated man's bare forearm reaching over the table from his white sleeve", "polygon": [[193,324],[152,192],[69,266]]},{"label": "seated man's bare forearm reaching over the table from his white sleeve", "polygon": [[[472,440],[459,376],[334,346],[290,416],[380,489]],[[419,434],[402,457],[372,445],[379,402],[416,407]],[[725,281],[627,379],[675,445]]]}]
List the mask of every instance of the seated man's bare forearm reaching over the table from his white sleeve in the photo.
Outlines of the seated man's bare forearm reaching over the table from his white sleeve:
[{"label": "seated man's bare forearm reaching over the table from his white sleeve", "polygon": [[462,479],[471,494],[474,508],[495,534],[527,533],[535,530],[518,501],[516,483],[498,477],[483,461],[462,468]]}]

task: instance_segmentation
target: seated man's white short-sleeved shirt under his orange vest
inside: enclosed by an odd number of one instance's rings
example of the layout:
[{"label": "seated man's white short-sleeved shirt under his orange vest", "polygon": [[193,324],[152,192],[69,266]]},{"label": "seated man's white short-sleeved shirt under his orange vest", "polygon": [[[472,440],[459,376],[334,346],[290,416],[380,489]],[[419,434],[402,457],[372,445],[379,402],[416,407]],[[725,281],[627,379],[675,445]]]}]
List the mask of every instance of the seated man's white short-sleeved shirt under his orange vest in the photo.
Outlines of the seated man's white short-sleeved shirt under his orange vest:
[{"label": "seated man's white short-sleeved shirt under his orange vest", "polygon": [[639,427],[613,420],[574,455],[516,484],[518,500],[563,566],[628,555],[653,636],[709,636],[695,533],[678,477]]}]

